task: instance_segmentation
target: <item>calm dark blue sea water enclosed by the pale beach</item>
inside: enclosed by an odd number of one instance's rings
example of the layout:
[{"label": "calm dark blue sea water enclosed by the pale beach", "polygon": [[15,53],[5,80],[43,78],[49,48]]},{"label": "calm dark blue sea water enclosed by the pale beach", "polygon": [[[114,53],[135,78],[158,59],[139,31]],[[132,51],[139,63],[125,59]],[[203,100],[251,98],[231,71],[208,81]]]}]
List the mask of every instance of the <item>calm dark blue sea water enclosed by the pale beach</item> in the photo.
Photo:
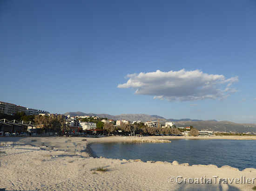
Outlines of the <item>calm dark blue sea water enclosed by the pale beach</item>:
[{"label": "calm dark blue sea water enclosed by the pale beach", "polygon": [[229,165],[256,168],[256,140],[172,140],[171,143],[100,143],[91,145],[97,156],[142,161],[177,160],[189,165]]}]

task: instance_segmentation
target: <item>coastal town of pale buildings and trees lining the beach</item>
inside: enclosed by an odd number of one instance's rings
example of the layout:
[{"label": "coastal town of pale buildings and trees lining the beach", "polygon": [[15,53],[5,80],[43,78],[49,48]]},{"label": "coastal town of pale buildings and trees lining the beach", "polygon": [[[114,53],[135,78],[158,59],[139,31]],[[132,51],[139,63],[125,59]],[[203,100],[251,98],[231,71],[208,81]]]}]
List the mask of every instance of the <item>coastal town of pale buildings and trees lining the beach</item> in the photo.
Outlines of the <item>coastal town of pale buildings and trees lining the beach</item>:
[{"label": "coastal town of pale buildings and trees lining the beach", "polygon": [[[22,115],[22,116],[21,116]],[[180,127],[174,121],[154,119],[152,121],[128,121],[107,119],[94,115],[61,115],[48,111],[27,108],[13,103],[0,102],[0,136],[26,136],[43,134],[61,135],[177,135],[177,136],[215,136],[236,135],[236,132],[197,130],[196,127]],[[60,128],[50,127],[50,118],[61,119]],[[54,121],[52,122],[54,123]],[[248,132],[237,135],[250,135]]]}]

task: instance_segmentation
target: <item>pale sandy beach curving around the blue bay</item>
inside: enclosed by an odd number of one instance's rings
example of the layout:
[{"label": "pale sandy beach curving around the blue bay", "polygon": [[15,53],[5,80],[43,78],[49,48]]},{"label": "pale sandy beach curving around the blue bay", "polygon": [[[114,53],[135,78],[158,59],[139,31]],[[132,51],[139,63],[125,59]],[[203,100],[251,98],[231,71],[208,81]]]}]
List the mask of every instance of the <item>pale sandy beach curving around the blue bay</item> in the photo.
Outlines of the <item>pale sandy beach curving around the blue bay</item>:
[{"label": "pale sandy beach curving around the blue bay", "polygon": [[[163,139],[163,137],[148,137],[148,139],[156,138]],[[243,137],[243,139],[247,138]],[[90,157],[92,153],[87,146],[89,143],[112,141],[129,141],[129,139],[124,137],[0,138],[0,151],[4,152],[0,153],[0,188],[72,191],[79,189],[89,191],[252,191],[252,187],[256,186],[256,180],[255,184],[235,184],[234,182],[232,184],[219,184],[218,182],[217,184],[215,182],[212,184],[172,184],[168,182],[170,176],[256,178],[256,169],[245,169],[241,172],[231,167],[182,166],[163,162],[144,163]],[[98,167],[106,167],[108,171],[95,171]]]}]

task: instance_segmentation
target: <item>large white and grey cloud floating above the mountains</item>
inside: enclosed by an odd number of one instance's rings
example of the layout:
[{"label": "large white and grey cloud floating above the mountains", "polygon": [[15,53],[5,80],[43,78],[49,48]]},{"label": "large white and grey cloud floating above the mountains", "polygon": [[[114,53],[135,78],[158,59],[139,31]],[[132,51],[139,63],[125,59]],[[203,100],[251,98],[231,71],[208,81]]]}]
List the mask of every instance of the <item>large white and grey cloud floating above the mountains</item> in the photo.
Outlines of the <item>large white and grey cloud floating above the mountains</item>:
[{"label": "large white and grey cloud floating above the mountains", "polygon": [[200,70],[128,74],[128,81],[118,88],[133,88],[135,94],[151,95],[154,99],[168,101],[195,101],[204,99],[224,99],[237,90],[230,86],[238,82],[238,77],[226,79],[223,75],[203,73]]}]

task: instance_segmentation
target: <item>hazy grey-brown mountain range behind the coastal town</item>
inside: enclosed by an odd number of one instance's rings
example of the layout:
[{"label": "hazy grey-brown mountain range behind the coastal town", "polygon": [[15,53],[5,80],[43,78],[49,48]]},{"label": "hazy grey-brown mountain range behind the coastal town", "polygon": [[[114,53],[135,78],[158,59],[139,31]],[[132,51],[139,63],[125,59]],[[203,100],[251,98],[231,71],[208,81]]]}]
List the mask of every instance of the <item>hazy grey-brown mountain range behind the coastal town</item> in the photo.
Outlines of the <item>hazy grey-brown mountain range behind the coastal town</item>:
[{"label": "hazy grey-brown mountain range behind the coastal town", "polygon": [[216,121],[216,120],[197,120],[197,119],[165,119],[159,115],[146,115],[146,114],[121,114],[121,115],[108,115],[108,114],[94,114],[83,112],[67,112],[64,115],[70,115],[74,117],[76,115],[83,116],[99,116],[101,118],[108,118],[113,120],[128,120],[128,121],[157,121],[164,124],[166,121],[174,121],[177,127],[193,126],[198,130],[213,130],[213,131],[225,131],[225,132],[237,132],[256,133],[256,124],[249,123],[234,123],[231,121]]}]

